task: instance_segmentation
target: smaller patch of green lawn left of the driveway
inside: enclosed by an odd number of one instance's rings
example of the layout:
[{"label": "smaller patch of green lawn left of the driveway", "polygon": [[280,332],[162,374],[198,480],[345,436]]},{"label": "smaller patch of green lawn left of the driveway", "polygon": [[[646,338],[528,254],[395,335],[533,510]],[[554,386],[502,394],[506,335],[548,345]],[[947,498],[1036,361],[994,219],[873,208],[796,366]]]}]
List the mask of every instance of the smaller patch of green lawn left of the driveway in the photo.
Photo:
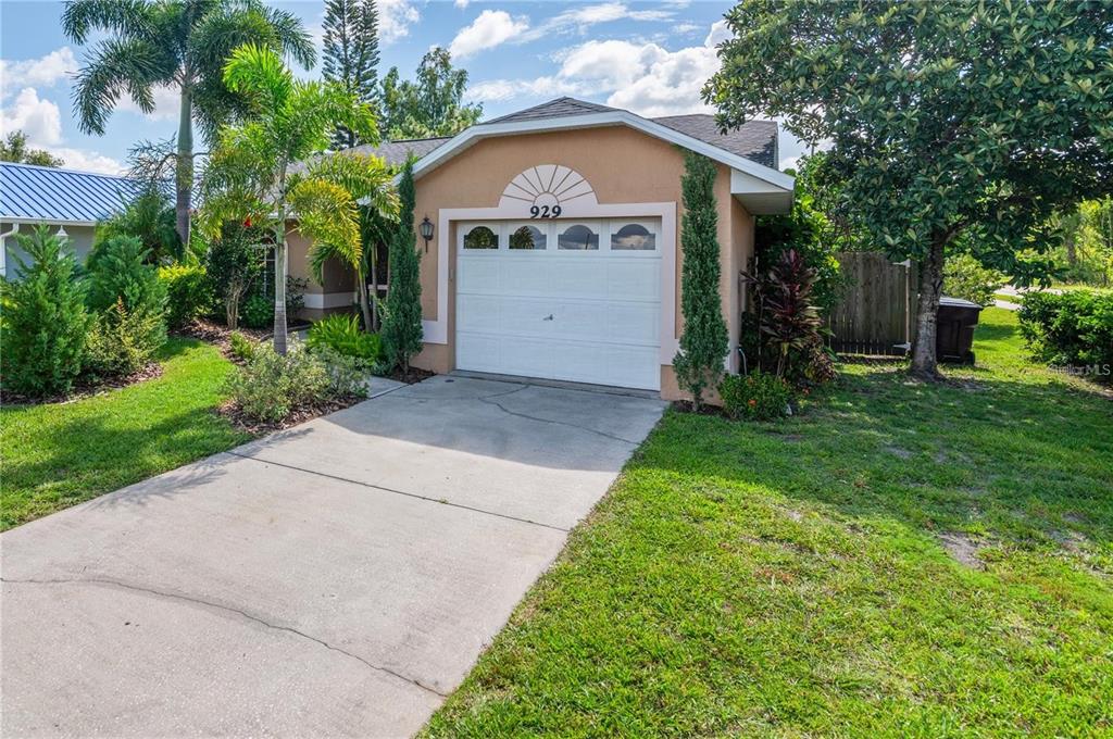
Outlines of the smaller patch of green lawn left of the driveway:
[{"label": "smaller patch of green lawn left of the driveway", "polygon": [[0,530],[173,470],[248,435],[213,413],[232,364],[171,338],[156,380],[71,403],[0,410]]}]

